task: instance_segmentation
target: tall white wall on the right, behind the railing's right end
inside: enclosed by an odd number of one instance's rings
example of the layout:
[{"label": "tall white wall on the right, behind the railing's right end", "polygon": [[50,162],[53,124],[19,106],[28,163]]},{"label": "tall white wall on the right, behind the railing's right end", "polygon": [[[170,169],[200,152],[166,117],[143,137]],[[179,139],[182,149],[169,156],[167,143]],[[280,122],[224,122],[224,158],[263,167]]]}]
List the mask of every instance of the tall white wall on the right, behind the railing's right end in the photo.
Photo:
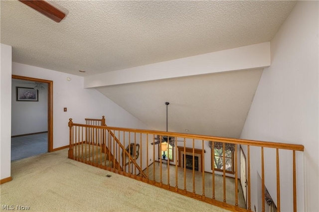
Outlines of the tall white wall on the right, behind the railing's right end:
[{"label": "tall white wall on the right, behind the railing's right end", "polygon": [[[271,40],[272,64],[263,72],[241,134],[243,139],[305,146],[304,153],[297,152],[297,208],[298,211],[309,212],[319,211],[318,3],[298,1]],[[261,175],[260,152],[251,153],[254,177]],[[265,157],[269,155],[273,153],[267,152]],[[285,168],[280,173],[281,209],[292,211],[292,153],[281,151],[280,160],[280,167]],[[267,163],[275,164],[275,158]],[[304,171],[305,176],[302,174]],[[276,177],[270,173],[266,171],[265,182],[277,202],[274,192]],[[256,183],[252,181],[252,209],[258,204]]]}]

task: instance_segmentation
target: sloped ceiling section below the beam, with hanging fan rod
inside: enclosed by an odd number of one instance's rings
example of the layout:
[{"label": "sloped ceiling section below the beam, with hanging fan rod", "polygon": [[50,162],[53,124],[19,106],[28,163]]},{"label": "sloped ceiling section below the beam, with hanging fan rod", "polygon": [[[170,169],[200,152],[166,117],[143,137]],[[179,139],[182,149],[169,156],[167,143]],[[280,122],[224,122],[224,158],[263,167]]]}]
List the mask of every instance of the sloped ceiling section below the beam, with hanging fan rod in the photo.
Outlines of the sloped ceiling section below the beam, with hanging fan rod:
[{"label": "sloped ceiling section below the beam, with hanging fan rod", "polygon": [[[263,69],[97,88],[151,129],[239,137]],[[188,129],[189,131],[185,131]]]}]

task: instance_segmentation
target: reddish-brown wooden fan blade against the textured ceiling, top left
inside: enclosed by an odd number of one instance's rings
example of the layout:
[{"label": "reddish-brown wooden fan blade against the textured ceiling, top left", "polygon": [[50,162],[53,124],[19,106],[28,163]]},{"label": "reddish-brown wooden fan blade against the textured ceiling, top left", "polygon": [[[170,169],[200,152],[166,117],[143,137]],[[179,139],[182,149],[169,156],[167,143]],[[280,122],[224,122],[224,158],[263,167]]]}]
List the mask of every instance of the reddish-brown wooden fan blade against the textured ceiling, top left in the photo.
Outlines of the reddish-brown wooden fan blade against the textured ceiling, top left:
[{"label": "reddish-brown wooden fan blade against the textured ceiling, top left", "polygon": [[44,14],[48,18],[51,18],[55,22],[60,22],[65,17],[64,12],[52,6],[45,0],[19,0],[19,1],[37,10],[38,12]]}]

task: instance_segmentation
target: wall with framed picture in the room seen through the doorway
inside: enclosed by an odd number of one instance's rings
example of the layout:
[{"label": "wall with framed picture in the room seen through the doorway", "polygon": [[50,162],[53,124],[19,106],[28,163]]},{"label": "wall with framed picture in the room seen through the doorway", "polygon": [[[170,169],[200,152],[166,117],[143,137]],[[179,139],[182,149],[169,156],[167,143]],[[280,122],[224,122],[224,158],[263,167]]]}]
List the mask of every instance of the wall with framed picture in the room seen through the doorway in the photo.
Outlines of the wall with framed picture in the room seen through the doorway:
[{"label": "wall with framed picture in the room seen through the doorway", "polygon": [[33,88],[31,81],[12,79],[11,136],[48,131],[48,89],[38,91],[38,102],[16,101],[16,87]]}]

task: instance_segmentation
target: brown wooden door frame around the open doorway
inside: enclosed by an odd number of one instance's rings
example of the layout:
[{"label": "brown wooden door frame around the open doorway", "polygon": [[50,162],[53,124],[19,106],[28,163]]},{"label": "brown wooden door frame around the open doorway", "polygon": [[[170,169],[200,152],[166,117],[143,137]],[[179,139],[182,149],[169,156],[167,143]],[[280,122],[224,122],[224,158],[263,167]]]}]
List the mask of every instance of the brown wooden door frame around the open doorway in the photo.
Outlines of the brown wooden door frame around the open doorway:
[{"label": "brown wooden door frame around the open doorway", "polygon": [[47,122],[48,122],[48,129],[47,129],[47,141],[48,141],[48,152],[53,151],[53,81],[50,80],[43,80],[31,77],[22,77],[17,75],[12,75],[12,79],[18,80],[27,80],[33,81],[38,83],[46,83],[47,84],[47,92],[48,92],[48,113],[47,113]]}]

